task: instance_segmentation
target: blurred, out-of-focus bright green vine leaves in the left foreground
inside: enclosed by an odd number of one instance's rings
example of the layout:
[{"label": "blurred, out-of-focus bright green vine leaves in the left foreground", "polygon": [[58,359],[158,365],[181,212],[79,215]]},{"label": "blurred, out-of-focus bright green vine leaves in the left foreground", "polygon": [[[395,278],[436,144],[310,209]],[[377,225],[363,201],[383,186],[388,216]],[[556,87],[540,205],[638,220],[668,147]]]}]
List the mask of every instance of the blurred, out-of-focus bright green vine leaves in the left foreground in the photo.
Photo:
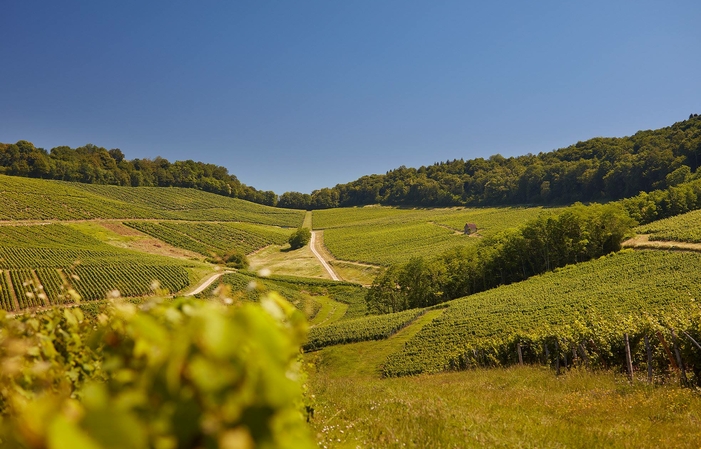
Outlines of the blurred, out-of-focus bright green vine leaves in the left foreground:
[{"label": "blurred, out-of-focus bright green vine leaves in the left foreground", "polygon": [[304,317],[255,305],[113,303],[0,315],[2,439],[11,447],[312,447]]}]

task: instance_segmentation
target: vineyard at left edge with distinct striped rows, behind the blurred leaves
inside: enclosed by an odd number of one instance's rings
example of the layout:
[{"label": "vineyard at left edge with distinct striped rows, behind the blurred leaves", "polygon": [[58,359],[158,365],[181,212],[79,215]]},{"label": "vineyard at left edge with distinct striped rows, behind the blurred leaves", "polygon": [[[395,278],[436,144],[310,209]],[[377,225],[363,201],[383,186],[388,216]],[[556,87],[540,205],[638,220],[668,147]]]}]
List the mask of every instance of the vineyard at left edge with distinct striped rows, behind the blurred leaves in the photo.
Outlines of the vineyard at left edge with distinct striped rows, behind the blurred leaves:
[{"label": "vineyard at left edge with distinct striped rows, behind the blurred leaves", "polygon": [[84,300],[177,292],[189,285],[186,263],[103,244],[59,224],[0,226],[0,305],[4,310]]}]

